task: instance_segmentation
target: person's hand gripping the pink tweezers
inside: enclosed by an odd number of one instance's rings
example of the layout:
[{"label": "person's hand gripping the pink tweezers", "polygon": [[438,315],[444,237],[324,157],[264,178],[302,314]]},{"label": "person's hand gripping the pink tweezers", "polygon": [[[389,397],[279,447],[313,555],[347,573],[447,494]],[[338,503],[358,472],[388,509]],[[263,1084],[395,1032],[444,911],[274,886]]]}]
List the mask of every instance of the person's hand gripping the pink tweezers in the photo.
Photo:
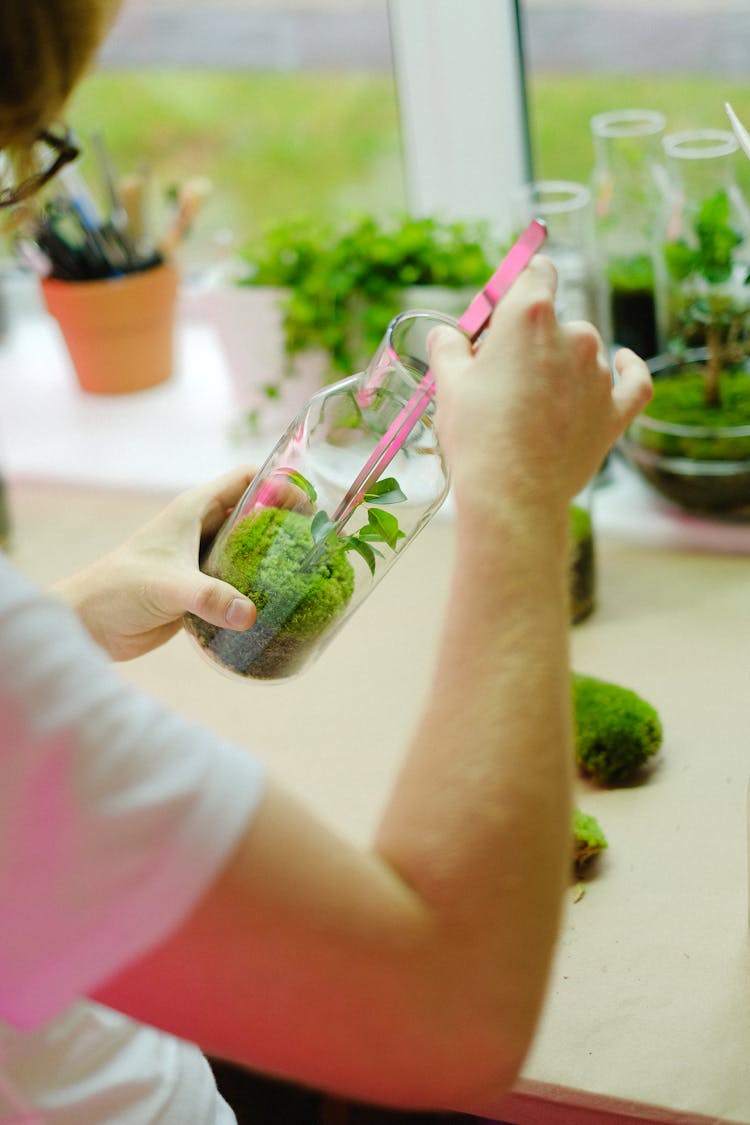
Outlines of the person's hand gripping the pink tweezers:
[{"label": "person's hand gripping the pink tweezers", "polygon": [[593,325],[560,324],[557,273],[535,258],[499,303],[481,343],[431,339],[437,426],[459,497],[568,503],[651,396],[643,360],[622,350],[613,381]]}]

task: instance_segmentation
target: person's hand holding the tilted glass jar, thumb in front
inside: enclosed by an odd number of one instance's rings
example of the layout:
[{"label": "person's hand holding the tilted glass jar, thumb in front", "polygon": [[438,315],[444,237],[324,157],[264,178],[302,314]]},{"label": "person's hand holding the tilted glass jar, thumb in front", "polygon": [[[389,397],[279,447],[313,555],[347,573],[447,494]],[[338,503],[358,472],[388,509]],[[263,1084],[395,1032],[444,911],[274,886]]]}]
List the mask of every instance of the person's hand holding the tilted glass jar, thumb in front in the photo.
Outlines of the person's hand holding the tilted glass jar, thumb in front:
[{"label": "person's hand holding the tilted glass jar, thumb in front", "polygon": [[253,624],[250,598],[198,567],[201,541],[218,531],[253,476],[253,470],[235,470],[180,494],[121,547],[56,584],[114,659],[162,645],[186,612],[228,629]]}]

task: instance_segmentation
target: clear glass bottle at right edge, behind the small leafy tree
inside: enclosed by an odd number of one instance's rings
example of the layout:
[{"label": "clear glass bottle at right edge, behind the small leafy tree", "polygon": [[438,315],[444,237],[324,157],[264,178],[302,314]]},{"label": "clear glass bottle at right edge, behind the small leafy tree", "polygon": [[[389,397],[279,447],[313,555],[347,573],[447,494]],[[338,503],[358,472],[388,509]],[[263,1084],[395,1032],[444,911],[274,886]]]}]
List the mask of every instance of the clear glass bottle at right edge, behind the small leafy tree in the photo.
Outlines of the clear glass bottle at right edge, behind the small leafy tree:
[{"label": "clear glass bottle at right edge, behind the small leafy tree", "polygon": [[724,129],[663,138],[667,198],[657,255],[660,351],[706,348],[717,368],[750,348],[750,209]]}]

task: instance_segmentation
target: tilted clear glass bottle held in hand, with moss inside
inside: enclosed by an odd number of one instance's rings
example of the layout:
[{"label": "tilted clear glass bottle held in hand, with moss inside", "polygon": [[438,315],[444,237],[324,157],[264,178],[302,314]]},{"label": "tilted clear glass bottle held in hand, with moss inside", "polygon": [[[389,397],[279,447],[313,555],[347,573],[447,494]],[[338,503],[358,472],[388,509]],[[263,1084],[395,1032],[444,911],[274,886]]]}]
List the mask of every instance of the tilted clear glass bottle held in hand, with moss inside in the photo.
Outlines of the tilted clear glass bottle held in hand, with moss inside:
[{"label": "tilted clear glass bottle held in hand, with moss inside", "polygon": [[257,608],[245,632],[186,616],[220,668],[264,681],[301,672],[443,503],[432,395],[416,395],[415,424],[389,464],[370,468],[414,400],[439,324],[457,322],[421,309],[396,316],[365,371],[313,396],[218,532],[202,569]]}]

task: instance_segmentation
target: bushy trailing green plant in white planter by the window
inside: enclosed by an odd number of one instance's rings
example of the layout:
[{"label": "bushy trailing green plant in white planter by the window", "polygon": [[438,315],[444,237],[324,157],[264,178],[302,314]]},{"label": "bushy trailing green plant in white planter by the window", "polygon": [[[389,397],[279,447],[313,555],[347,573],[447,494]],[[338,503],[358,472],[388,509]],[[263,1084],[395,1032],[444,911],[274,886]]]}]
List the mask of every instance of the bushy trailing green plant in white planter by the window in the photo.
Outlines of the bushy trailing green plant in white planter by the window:
[{"label": "bushy trailing green plant in white planter by the window", "polygon": [[301,352],[322,350],[334,380],[363,369],[405,288],[478,289],[500,248],[484,223],[362,215],[281,223],[243,256],[250,273],[242,285],[289,290],[281,304],[289,371]]}]

